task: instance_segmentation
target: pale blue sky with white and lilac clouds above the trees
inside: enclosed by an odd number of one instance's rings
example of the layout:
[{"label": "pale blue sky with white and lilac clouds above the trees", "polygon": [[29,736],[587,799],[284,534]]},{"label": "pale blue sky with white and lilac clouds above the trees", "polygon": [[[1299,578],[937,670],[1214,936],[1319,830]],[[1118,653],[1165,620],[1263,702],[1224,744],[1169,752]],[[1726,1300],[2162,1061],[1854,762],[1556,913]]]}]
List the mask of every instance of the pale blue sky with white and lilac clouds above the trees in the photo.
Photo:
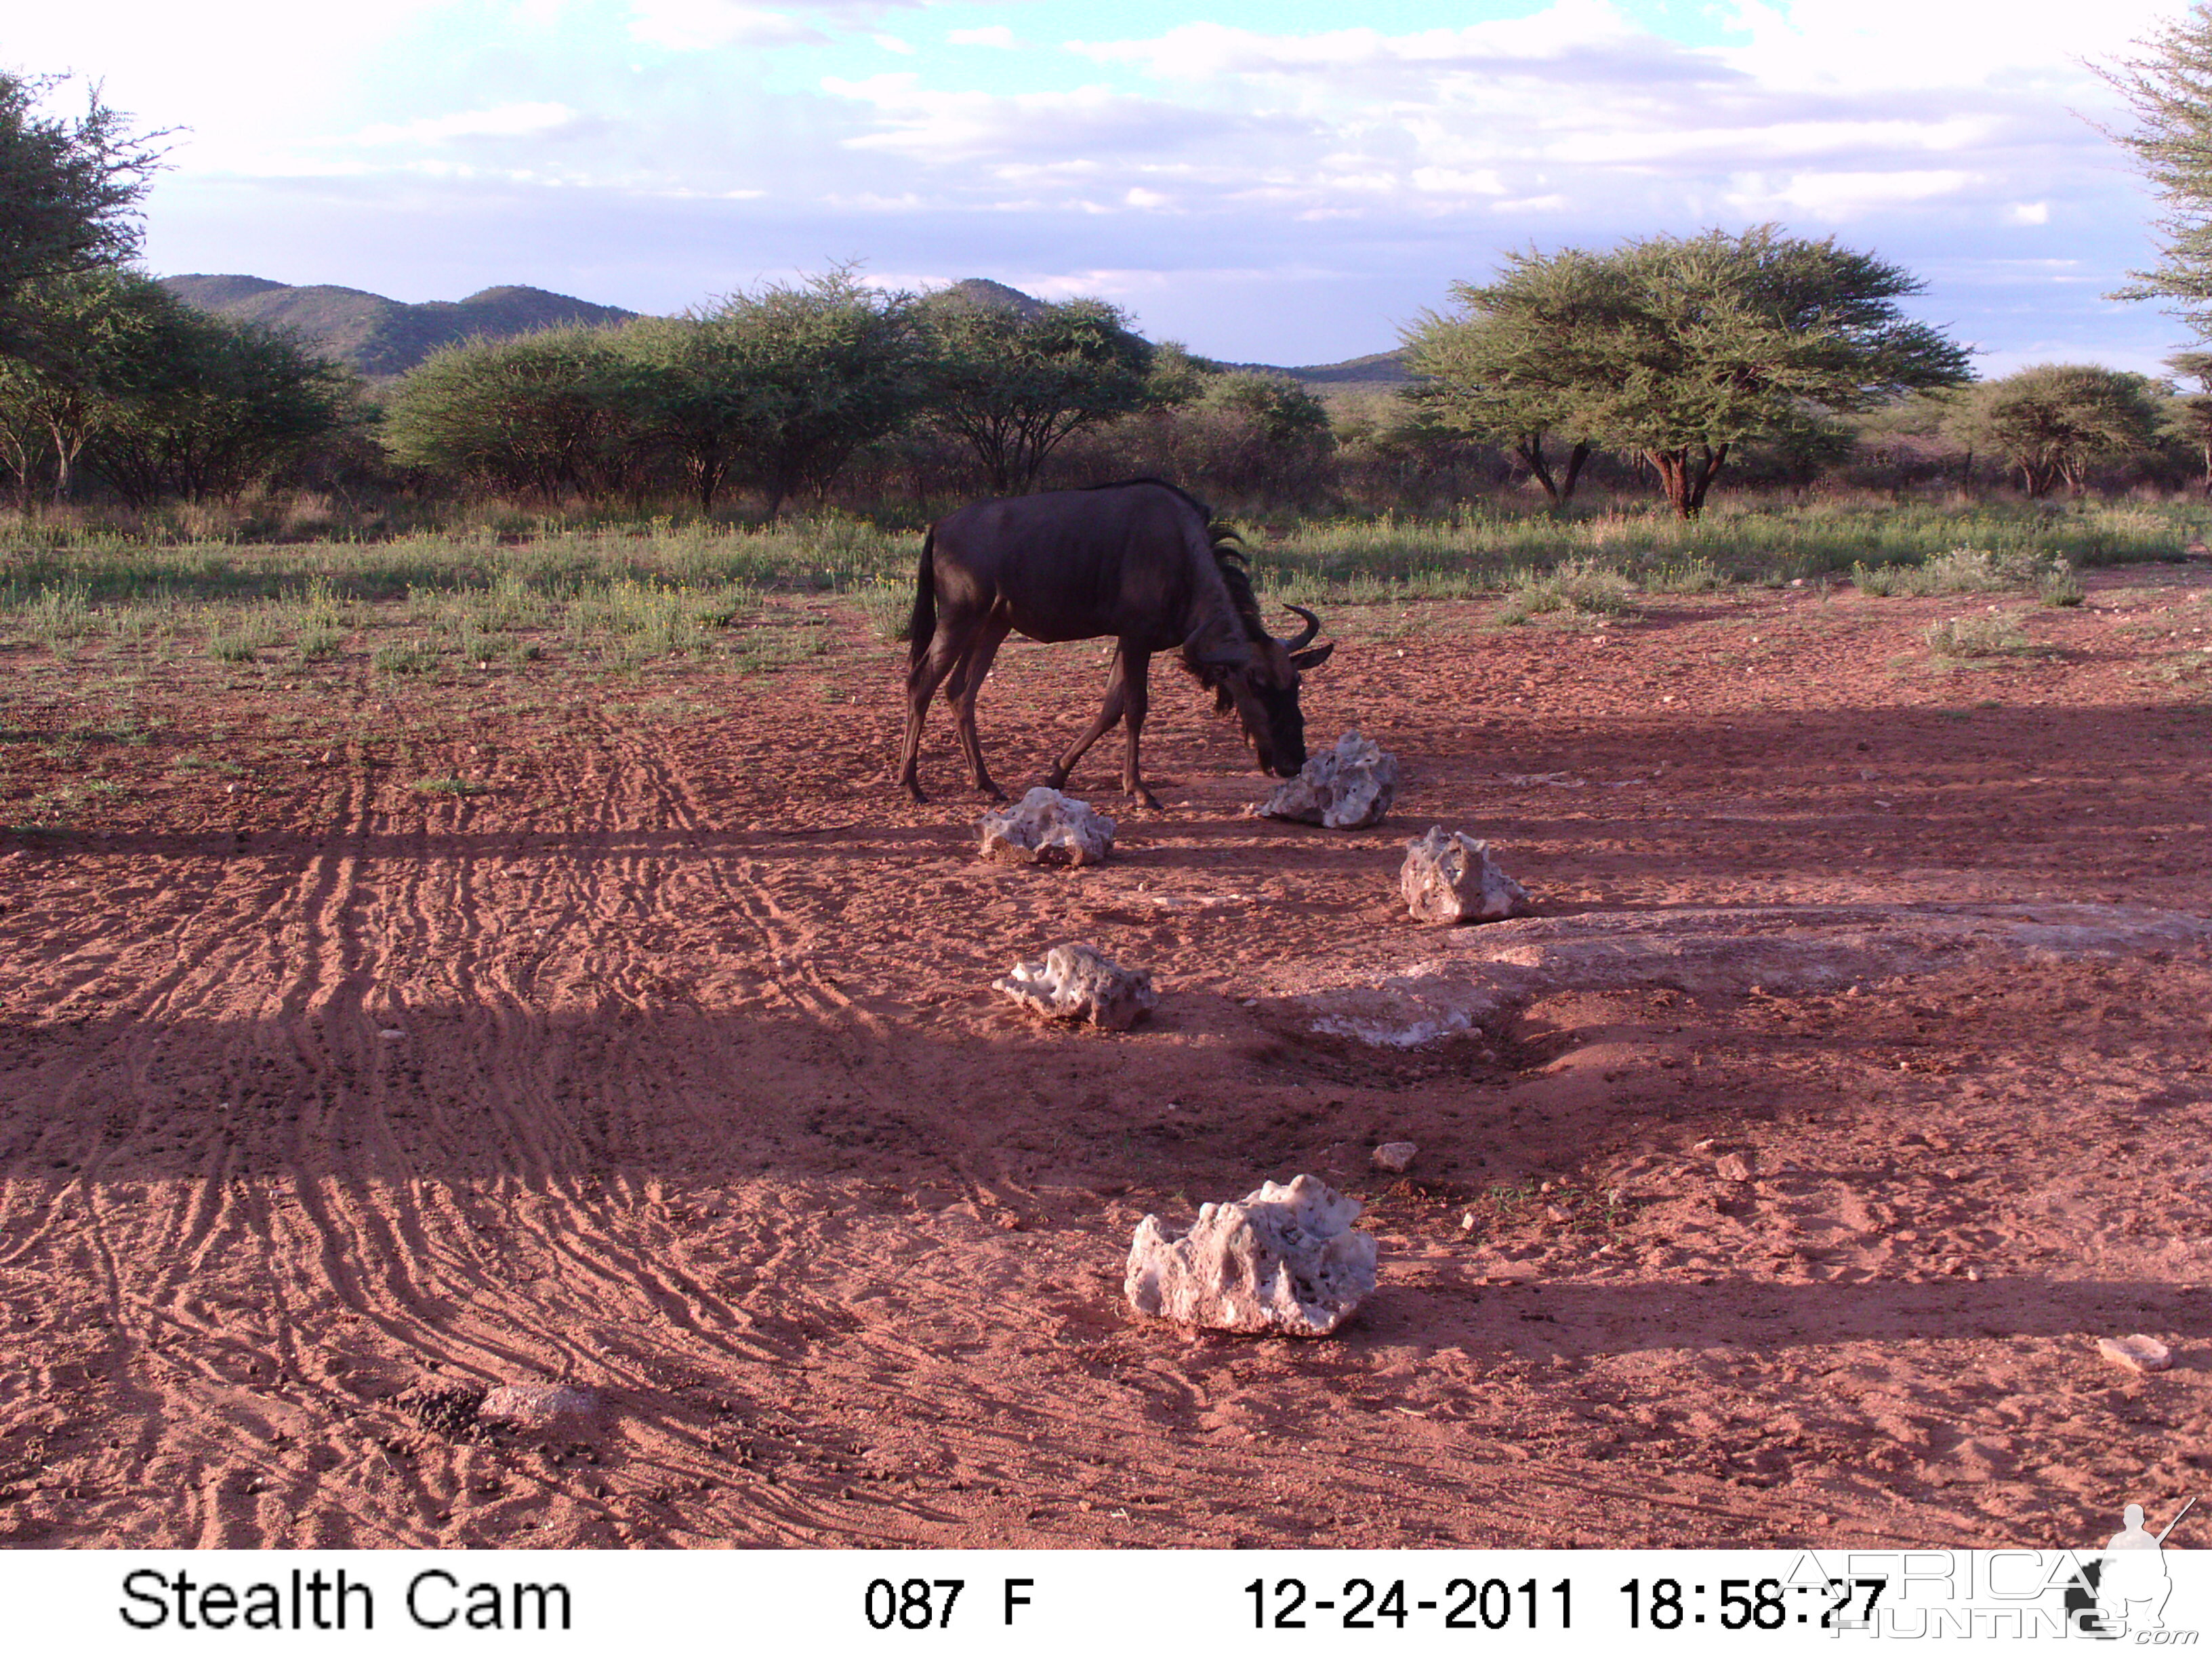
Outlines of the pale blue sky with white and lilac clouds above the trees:
[{"label": "pale blue sky with white and lilac clouds above the trees", "polygon": [[1997,374],[2154,369],[2088,71],[2179,0],[4,0],[186,128],[157,272],[668,312],[832,261],[1102,294],[1234,361],[1396,345],[1509,248],[1781,221]]}]

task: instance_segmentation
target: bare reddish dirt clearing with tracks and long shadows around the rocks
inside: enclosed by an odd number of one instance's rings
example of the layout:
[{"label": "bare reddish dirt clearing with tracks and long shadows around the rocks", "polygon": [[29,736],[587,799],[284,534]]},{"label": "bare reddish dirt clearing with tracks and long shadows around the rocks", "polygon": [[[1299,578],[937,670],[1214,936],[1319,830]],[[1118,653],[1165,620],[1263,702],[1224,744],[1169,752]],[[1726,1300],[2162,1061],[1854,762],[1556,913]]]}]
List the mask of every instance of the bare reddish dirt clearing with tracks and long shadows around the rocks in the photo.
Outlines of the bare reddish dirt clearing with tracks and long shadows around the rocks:
[{"label": "bare reddish dirt clearing with tracks and long shadows around the rocks", "polygon": [[[894,801],[858,611],[752,675],[13,646],[0,821],[60,827],[0,836],[0,1540],[2101,1537],[2212,1467],[2212,577],[2088,588],[1966,664],[1922,630],[1986,595],[1338,606],[1307,717],[1400,757],[1391,821],[1241,816],[1265,783],[1172,677],[1168,810],[1093,752],[1082,872],[975,858],[942,717],[938,799]],[[1009,644],[1009,785],[1102,670]],[[1405,920],[1431,823],[1537,918]],[[2110,936],[1314,1029],[1714,911]],[[989,991],[1064,938],[1157,1018]],[[1336,1338],[1124,1316],[1146,1210],[1301,1170],[1383,1245]],[[2128,1332],[2177,1367],[2099,1358]],[[602,1409],[478,1425],[509,1380]]]}]

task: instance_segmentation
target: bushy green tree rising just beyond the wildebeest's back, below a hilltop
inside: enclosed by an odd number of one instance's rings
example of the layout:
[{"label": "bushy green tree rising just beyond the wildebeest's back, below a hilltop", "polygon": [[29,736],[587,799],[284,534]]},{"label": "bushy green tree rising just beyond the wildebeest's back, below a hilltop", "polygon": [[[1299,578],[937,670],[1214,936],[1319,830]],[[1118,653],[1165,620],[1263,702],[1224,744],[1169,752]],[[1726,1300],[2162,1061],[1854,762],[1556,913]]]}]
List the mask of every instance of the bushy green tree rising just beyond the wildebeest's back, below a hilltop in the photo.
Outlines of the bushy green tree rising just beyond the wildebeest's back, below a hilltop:
[{"label": "bushy green tree rising just beyond the wildebeest's back, below a hilltop", "polygon": [[1031,489],[1068,434],[1166,392],[1150,378],[1152,345],[1099,299],[1018,310],[949,290],[922,314],[936,354],[929,418],[1002,495]]}]

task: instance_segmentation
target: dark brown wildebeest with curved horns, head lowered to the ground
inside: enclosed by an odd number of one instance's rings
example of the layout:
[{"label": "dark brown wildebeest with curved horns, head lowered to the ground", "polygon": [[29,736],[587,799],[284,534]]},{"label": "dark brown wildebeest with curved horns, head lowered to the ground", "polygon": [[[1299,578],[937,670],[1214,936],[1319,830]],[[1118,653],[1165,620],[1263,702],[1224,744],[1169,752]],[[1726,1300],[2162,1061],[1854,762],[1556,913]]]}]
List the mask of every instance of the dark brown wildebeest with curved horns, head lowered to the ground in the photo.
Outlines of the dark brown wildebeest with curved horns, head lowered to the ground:
[{"label": "dark brown wildebeest with curved horns, head lowered to the ground", "polygon": [[898,781],[922,799],[914,776],[922,717],[942,681],[975,787],[1006,799],[982,763],[975,692],[1009,633],[1046,644],[1117,641],[1104,708],[1046,774],[1055,790],[1084,750],[1126,721],[1121,787],[1148,807],[1159,805],[1137,776],[1146,672],[1159,650],[1179,650],[1183,668],[1214,692],[1217,708],[1237,710],[1261,772],[1296,776],[1305,765],[1298,670],[1318,668],[1336,646],[1307,650],[1321,622],[1312,611],[1290,611],[1305,619],[1305,630],[1276,639],[1261,622],[1237,533],[1157,478],[962,507],[922,540],[914,617],[902,635],[914,650]]}]

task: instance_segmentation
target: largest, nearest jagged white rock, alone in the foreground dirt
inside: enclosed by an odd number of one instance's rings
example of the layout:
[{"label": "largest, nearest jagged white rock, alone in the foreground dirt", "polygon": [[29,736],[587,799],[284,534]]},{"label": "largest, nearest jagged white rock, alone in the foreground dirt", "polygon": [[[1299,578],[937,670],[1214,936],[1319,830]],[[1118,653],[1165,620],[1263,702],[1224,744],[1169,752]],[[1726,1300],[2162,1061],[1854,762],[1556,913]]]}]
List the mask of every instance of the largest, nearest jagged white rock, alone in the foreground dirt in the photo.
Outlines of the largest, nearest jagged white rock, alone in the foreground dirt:
[{"label": "largest, nearest jagged white rock, alone in the foreground dirt", "polygon": [[1128,1305],[1221,1332],[1327,1336],[1376,1287],[1376,1241],[1352,1230],[1358,1214],[1312,1175],[1201,1203],[1181,1239],[1148,1214],[1128,1245]]}]

